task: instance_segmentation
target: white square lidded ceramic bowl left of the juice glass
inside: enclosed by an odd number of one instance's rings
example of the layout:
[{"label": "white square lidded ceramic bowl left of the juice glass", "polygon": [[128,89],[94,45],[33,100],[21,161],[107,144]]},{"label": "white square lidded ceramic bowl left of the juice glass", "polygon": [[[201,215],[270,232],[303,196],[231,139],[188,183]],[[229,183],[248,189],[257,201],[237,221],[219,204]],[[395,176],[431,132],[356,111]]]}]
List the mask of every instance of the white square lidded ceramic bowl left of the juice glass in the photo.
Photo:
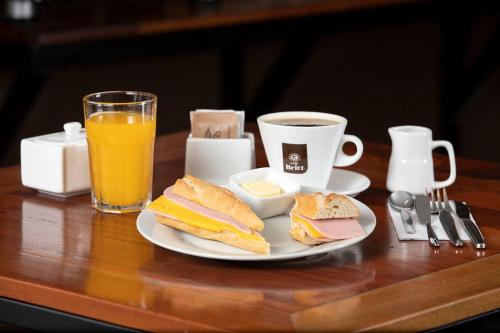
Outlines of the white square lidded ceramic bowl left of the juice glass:
[{"label": "white square lidded ceramic bowl left of the juice glass", "polygon": [[64,124],[64,132],[21,140],[21,181],[24,186],[58,197],[90,192],[85,129]]}]

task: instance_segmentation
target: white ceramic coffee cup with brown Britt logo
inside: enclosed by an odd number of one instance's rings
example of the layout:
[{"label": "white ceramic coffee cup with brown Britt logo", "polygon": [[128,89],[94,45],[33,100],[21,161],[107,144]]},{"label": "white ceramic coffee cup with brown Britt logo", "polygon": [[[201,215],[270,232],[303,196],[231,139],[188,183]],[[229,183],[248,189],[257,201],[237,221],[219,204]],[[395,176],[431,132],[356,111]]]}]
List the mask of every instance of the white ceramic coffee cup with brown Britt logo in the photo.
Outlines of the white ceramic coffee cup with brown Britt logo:
[{"label": "white ceramic coffee cup with brown Britt logo", "polygon": [[[320,119],[332,124],[314,127],[276,124],[287,119]],[[354,135],[344,134],[347,119],[338,115],[307,111],[276,112],[260,116],[257,123],[269,166],[303,186],[324,189],[333,166],[354,164],[363,154],[363,143]],[[346,142],[356,145],[354,155],[346,155],[342,151]]]}]

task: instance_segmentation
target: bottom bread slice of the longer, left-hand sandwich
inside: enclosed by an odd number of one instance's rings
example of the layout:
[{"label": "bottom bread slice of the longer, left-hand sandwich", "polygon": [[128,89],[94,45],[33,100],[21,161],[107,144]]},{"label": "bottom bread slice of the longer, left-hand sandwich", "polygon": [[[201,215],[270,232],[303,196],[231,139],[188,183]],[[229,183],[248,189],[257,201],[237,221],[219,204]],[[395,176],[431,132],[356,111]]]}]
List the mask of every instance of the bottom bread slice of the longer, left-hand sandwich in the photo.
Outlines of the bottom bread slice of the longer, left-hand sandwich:
[{"label": "bottom bread slice of the longer, left-hand sandwich", "polygon": [[177,230],[185,231],[187,233],[193,234],[195,236],[216,240],[225,244],[229,244],[240,249],[244,249],[247,251],[259,253],[259,254],[269,254],[270,245],[266,240],[257,232],[252,232],[254,235],[260,236],[258,240],[249,240],[243,239],[238,236],[236,233],[231,231],[223,231],[223,232],[213,232],[206,229],[201,229],[197,227],[193,227],[187,223],[174,220],[159,214],[156,215],[156,220],[162,224],[168,225]]}]

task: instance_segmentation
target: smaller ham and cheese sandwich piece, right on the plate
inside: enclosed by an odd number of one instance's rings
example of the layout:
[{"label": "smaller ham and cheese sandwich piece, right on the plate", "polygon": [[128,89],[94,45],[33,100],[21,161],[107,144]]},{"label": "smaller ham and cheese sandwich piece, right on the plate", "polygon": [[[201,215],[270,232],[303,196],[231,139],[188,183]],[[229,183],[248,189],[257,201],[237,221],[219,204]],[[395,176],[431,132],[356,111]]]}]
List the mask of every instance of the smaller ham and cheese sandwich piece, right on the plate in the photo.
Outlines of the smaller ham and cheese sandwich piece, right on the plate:
[{"label": "smaller ham and cheese sandwich piece, right on the plate", "polygon": [[358,207],[344,195],[298,193],[290,212],[290,235],[309,245],[363,236],[358,218]]}]

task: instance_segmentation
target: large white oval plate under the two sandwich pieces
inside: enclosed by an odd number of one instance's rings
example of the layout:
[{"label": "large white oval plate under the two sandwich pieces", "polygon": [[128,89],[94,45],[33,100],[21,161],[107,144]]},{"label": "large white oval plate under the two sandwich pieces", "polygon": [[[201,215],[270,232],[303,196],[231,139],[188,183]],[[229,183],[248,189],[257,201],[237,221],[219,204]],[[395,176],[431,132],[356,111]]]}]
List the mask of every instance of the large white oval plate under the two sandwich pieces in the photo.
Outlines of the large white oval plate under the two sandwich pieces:
[{"label": "large white oval plate under the two sandwich pieces", "polygon": [[364,236],[308,246],[290,237],[290,217],[280,215],[263,220],[265,227],[261,234],[271,244],[269,255],[255,254],[160,224],[156,222],[154,213],[148,210],[142,211],[137,217],[137,230],[144,238],[158,246],[196,257],[238,261],[289,260],[341,249],[368,237],[375,229],[375,214],[360,201],[351,200],[359,209],[359,223],[365,231]]}]

